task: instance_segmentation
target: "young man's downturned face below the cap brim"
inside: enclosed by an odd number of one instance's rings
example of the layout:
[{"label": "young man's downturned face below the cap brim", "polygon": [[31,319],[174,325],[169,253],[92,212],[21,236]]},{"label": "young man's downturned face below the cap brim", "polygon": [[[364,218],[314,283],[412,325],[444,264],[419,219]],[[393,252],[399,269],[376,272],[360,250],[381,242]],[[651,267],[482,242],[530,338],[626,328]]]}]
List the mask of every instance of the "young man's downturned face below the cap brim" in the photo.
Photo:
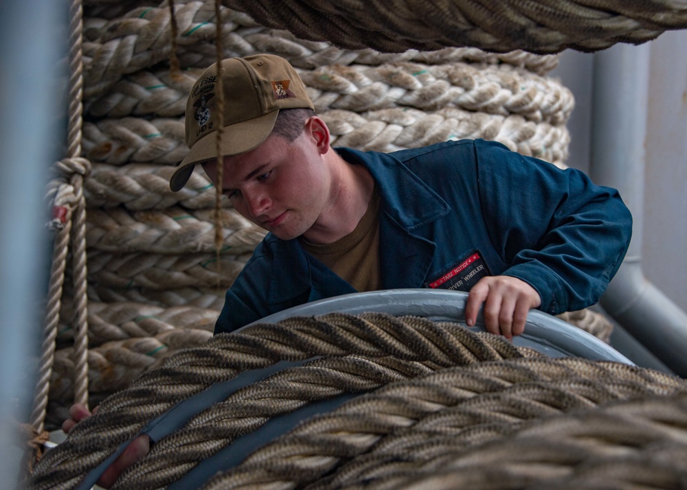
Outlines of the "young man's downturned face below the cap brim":
[{"label": "young man's downturned face below the cap brim", "polygon": [[291,143],[270,135],[254,150],[225,156],[223,185],[217,183],[216,161],[204,163],[203,169],[236,211],[291,240],[311,229],[330,195],[328,168],[306,134]]}]

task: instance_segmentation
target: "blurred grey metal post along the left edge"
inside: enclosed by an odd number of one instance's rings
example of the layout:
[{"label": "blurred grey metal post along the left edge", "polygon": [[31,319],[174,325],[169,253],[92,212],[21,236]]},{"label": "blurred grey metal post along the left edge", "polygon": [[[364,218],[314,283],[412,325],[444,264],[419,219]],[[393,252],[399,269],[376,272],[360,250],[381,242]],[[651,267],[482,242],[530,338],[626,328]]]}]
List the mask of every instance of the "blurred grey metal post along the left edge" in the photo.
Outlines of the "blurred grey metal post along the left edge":
[{"label": "blurred grey metal post along the left edge", "polygon": [[[45,185],[66,121],[56,74],[67,45],[68,5],[0,3],[0,475],[14,488],[41,345],[49,237]],[[66,123],[65,123],[66,124]]]}]

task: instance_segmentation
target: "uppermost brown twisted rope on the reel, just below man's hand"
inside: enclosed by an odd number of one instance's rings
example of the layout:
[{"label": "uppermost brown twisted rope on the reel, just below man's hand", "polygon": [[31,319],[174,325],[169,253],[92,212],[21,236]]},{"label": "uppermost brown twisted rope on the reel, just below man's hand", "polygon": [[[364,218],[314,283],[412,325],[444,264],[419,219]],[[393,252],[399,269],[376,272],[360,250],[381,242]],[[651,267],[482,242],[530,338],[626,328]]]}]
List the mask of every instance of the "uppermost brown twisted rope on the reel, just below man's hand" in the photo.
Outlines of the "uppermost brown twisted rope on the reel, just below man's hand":
[{"label": "uppermost brown twisted rope on the reel, just below man's hand", "polygon": [[199,349],[175,353],[161,368],[144,372],[131,386],[104,400],[95,415],[78,424],[67,441],[45,455],[30,488],[72,487],[84,471],[130,440],[146,421],[240,371],[278,360],[352,353],[377,360],[396,358],[407,371],[418,363],[436,369],[536,355],[516,349],[501,337],[474,334],[456,324],[385,314],[335,313],[247,327],[214,336]]}]

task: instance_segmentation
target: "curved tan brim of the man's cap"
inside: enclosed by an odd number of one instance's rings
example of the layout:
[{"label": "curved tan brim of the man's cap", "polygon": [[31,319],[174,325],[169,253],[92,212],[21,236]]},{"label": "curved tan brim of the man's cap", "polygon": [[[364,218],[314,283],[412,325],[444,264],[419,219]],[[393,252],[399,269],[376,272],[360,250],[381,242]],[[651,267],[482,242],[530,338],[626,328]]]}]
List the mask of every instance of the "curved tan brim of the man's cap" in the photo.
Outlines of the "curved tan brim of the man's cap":
[{"label": "curved tan brim of the man's cap", "polygon": [[[221,154],[238,155],[257,148],[272,132],[278,114],[279,110],[273,110],[271,113],[225,126],[220,142]],[[218,131],[213,131],[196,141],[170,178],[172,191],[180,191],[186,185],[196,163],[217,158],[217,136]]]}]

